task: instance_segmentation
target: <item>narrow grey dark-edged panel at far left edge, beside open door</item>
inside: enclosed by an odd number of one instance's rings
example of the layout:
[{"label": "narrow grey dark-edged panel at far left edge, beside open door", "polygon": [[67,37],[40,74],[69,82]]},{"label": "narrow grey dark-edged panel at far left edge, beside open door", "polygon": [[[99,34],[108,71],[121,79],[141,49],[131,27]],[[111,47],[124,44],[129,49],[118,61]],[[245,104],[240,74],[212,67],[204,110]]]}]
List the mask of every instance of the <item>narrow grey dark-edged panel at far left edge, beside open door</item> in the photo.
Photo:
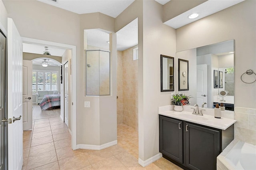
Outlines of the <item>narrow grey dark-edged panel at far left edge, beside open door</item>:
[{"label": "narrow grey dark-edged panel at far left edge, beside open door", "polygon": [[[6,37],[0,30],[0,120],[7,118],[6,114]],[[5,170],[7,165],[7,122],[0,122],[0,170]]]}]

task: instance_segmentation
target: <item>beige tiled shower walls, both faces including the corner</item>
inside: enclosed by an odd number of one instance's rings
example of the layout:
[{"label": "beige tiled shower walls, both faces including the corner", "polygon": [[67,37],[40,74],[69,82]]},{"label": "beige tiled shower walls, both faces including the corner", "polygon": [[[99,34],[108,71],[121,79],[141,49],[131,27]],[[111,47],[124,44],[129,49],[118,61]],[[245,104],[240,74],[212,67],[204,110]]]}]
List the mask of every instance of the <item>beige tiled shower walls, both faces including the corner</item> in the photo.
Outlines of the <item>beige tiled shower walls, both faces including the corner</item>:
[{"label": "beige tiled shower walls, both faces including the corner", "polygon": [[[118,51],[117,123],[123,123],[138,130],[138,60],[133,60],[133,49],[135,47],[137,45],[122,52]],[[122,58],[120,59],[121,55]],[[121,67],[122,71],[120,70]],[[120,77],[120,74],[122,74],[122,77]],[[120,96],[122,97],[120,98]]]}]

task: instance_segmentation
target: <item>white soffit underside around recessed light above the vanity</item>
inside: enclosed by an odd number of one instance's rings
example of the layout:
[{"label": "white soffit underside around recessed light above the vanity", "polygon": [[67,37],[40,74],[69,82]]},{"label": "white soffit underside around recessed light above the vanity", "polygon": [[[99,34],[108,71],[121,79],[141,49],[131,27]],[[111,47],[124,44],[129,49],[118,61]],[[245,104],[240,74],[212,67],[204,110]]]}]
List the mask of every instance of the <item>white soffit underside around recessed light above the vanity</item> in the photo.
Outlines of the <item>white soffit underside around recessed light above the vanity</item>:
[{"label": "white soffit underside around recessed light above the vanity", "polygon": [[[190,24],[196,20],[200,20],[201,18],[204,18],[206,16],[209,16],[211,14],[214,14],[216,12],[224,10],[230,6],[238,4],[242,1],[244,1],[244,0],[208,0],[196,7],[164,22],[164,24],[177,29],[177,28],[180,28],[187,24]],[[194,14],[194,13],[199,14],[199,16],[194,19],[189,19],[188,16],[190,14]]]}]

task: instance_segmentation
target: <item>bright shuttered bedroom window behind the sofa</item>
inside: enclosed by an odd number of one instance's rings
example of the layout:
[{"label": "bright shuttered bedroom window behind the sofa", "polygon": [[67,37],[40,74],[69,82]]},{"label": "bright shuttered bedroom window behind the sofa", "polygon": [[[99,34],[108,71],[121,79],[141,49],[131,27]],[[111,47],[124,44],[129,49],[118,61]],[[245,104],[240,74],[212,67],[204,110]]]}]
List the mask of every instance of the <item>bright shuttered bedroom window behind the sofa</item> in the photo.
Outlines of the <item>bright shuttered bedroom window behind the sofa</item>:
[{"label": "bright shuttered bedroom window behind the sofa", "polygon": [[58,91],[58,71],[32,71],[32,93],[43,90]]}]

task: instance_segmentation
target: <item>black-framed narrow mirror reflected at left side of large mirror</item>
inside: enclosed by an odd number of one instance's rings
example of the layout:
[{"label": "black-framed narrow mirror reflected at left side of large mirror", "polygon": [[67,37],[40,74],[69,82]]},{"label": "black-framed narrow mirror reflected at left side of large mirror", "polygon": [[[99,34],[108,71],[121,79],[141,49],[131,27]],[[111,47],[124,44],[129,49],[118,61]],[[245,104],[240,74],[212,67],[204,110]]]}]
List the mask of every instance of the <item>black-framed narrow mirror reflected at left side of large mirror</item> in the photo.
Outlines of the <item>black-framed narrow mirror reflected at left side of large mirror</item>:
[{"label": "black-framed narrow mirror reflected at left side of large mirror", "polygon": [[178,59],[178,82],[179,91],[189,90],[188,60]]}]

